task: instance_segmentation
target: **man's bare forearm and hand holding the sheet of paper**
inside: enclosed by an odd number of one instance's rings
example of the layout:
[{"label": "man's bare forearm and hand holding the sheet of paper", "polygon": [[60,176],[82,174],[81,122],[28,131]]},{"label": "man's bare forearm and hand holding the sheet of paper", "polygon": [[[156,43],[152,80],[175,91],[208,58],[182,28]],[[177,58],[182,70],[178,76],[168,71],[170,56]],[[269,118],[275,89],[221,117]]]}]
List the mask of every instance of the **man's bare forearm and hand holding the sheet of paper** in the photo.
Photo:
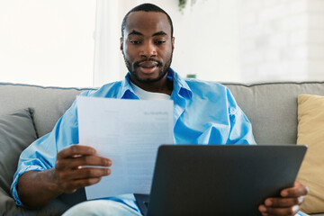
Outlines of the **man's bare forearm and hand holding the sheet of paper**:
[{"label": "man's bare forearm and hand holding the sheet of paper", "polygon": [[112,161],[95,155],[94,148],[73,145],[58,152],[55,167],[29,171],[18,179],[17,192],[24,205],[42,207],[61,193],[98,183],[110,175]]}]

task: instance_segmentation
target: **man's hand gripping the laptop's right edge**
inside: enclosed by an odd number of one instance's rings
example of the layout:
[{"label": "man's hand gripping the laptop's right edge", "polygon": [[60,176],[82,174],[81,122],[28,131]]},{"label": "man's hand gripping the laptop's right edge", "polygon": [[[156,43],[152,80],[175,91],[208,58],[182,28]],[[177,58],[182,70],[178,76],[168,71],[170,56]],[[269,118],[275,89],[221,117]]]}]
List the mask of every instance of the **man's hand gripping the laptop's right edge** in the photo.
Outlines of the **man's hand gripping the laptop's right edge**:
[{"label": "man's hand gripping the laptop's right edge", "polygon": [[309,193],[307,186],[295,182],[293,187],[280,192],[282,197],[266,198],[265,203],[259,205],[262,215],[295,215],[300,209],[305,196]]}]

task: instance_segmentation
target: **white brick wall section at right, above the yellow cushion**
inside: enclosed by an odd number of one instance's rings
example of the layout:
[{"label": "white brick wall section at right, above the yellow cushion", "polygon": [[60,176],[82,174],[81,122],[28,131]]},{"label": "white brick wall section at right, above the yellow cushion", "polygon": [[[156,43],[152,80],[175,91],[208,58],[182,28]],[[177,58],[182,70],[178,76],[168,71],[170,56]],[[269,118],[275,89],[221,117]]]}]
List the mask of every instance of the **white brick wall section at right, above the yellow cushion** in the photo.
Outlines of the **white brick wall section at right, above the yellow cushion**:
[{"label": "white brick wall section at right, above the yellow cushion", "polygon": [[323,0],[240,0],[243,81],[324,80]]}]

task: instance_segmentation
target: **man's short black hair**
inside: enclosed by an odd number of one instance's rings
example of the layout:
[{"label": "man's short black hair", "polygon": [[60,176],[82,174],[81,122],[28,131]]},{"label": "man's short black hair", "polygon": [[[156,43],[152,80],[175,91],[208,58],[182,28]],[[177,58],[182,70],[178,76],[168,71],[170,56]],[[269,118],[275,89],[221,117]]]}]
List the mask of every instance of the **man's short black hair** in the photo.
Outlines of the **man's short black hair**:
[{"label": "man's short black hair", "polygon": [[127,22],[127,18],[129,16],[130,13],[132,12],[139,12],[139,11],[144,11],[144,12],[159,12],[159,13],[163,13],[166,14],[167,20],[171,25],[171,37],[173,37],[173,23],[171,20],[171,17],[166,13],[165,10],[163,10],[162,8],[160,8],[159,6],[157,6],[156,4],[149,4],[149,3],[145,3],[145,4],[139,4],[138,6],[134,7],[133,9],[131,9],[122,19],[122,23],[121,23],[121,37],[123,38],[123,31],[125,30],[126,27],[126,22]]}]

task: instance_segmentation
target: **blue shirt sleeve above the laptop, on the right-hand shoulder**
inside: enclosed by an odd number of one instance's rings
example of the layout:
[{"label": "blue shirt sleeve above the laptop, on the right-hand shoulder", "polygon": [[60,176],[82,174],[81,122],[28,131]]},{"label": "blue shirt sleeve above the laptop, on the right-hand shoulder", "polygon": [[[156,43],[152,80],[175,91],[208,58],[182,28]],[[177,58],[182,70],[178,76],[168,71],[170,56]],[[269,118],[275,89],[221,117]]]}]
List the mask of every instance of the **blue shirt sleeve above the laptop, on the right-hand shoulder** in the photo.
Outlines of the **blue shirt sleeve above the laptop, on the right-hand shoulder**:
[{"label": "blue shirt sleeve above the laptop, on the right-hand shoulder", "polygon": [[245,113],[239,108],[234,96],[227,89],[229,107],[229,138],[227,144],[256,144],[252,125]]}]

